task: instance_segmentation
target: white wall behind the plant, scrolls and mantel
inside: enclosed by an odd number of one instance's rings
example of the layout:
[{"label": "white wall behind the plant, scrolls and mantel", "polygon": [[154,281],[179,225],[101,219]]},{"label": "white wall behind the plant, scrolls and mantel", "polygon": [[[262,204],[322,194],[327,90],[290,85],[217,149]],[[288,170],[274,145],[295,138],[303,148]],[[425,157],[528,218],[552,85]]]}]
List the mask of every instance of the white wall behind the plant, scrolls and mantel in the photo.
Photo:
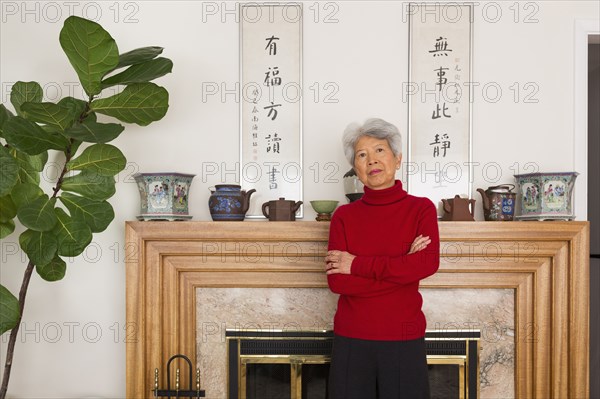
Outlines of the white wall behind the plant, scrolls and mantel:
[{"label": "white wall behind the plant, scrolls and mantel", "polygon": [[[11,82],[17,80],[41,82],[50,99],[69,95],[70,85],[64,82],[75,82],[76,77],[58,44],[69,7],[92,19],[100,13],[99,22],[122,51],[160,45],[175,64],[173,73],[160,80],[171,95],[167,116],[147,128],[129,126],[116,142],[129,165],[118,175],[117,194],[111,200],[116,211],[113,224],[95,235],[85,259],[68,264],[63,281],[46,283],[34,275],[9,390],[10,396],[19,398],[124,397],[123,225],[139,210],[131,174],[165,170],[197,174],[190,192],[194,220],[210,219],[209,186],[236,180],[234,174],[222,178],[203,171],[212,170],[214,164],[220,171],[235,167],[238,103],[233,94],[223,101],[218,95],[203,101],[202,93],[206,82],[231,91],[238,81],[238,26],[234,13],[225,12],[235,9],[235,3],[2,0],[0,5],[3,103],[8,102]],[[379,116],[406,131],[407,104],[401,89],[407,80],[408,26],[403,3],[394,1],[309,1],[304,12],[304,201],[344,201],[341,176],[349,166],[340,146],[343,128],[351,121]],[[327,15],[337,22],[325,23]],[[476,6],[473,78],[481,85],[473,104],[473,160],[500,164],[502,177],[486,180],[483,169],[476,168],[474,188],[512,182],[515,166],[524,172],[527,162],[542,171],[572,170],[574,21],[598,15],[595,1]],[[524,23],[526,16],[537,22]],[[338,88],[335,103],[323,101],[330,93],[323,90],[328,82]],[[515,82],[521,88],[516,102],[510,89]],[[321,89],[319,101],[308,89],[315,83]],[[502,89],[497,102],[486,100],[480,90],[490,83]],[[524,102],[531,93],[523,90],[526,83],[537,88],[536,103]],[[325,168],[327,162],[339,165],[333,177],[340,183],[324,181],[332,170]],[[52,171],[48,175],[52,177]],[[586,179],[582,174],[577,184]],[[475,198],[479,200],[478,194]],[[306,207],[305,220],[314,216]],[[482,219],[479,207],[477,216]],[[14,253],[20,231],[2,241],[2,284],[12,292],[18,292],[25,266]],[[2,364],[7,341],[5,334]]]}]

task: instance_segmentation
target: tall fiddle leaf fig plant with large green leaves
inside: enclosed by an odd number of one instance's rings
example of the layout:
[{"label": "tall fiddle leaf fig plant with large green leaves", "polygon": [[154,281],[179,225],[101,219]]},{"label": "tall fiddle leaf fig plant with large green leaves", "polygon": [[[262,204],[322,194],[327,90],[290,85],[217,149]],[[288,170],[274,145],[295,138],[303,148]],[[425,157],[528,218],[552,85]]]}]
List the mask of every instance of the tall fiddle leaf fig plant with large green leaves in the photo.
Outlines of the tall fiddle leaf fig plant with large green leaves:
[{"label": "tall fiddle leaf fig plant with large green leaves", "polygon": [[[14,112],[0,104],[0,239],[20,223],[25,231],[19,245],[29,260],[18,297],[0,285],[0,334],[11,331],[2,399],[33,270],[47,281],[62,279],[64,258],[80,255],[115,216],[107,200],[126,159],[109,142],[125,128],[99,121],[98,114],[146,126],[162,119],[169,107],[167,90],[151,82],[173,68],[171,60],[159,57],[161,47],[119,54],[102,26],[75,16],[65,20],[59,41],[86,98],[45,102],[40,84],[16,82],[10,93]],[[122,90],[103,93],[114,86]],[[50,151],[59,153],[63,169],[46,193],[40,173]]]}]

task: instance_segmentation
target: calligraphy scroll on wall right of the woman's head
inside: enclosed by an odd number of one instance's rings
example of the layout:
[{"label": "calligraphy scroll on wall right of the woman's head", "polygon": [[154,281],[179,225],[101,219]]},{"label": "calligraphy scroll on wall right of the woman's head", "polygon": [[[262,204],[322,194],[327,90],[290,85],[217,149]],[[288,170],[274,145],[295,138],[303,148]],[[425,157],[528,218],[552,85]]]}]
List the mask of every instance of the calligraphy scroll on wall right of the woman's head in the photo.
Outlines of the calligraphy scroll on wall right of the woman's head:
[{"label": "calligraphy scroll on wall right of the woman's head", "polygon": [[[409,3],[408,191],[438,205],[471,196],[473,9]],[[441,209],[439,209],[441,214]]]}]

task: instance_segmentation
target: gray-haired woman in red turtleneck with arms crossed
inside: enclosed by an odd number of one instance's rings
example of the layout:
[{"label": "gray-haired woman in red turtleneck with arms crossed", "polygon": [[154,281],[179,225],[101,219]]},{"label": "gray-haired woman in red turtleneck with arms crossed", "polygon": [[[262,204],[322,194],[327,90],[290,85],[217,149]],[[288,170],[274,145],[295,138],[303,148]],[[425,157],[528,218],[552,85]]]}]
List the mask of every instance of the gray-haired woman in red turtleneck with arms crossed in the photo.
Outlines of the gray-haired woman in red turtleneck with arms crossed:
[{"label": "gray-haired woman in red turtleneck with arms crossed", "polygon": [[396,180],[402,138],[394,125],[350,125],[343,142],[365,194],[331,220],[326,272],[340,297],[329,398],[428,398],[419,281],[439,266],[436,208]]}]

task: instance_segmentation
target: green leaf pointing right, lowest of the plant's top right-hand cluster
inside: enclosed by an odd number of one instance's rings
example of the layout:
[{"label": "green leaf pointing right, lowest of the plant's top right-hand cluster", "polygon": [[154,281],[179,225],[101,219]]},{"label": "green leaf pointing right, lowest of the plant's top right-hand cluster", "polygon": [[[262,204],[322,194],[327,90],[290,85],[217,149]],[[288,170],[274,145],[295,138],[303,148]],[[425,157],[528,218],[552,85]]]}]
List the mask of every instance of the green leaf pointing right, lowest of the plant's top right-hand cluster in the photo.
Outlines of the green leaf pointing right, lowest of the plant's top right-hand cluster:
[{"label": "green leaf pointing right, lowest of the plant's top right-hand cluster", "polygon": [[140,126],[162,119],[168,108],[167,90],[150,82],[134,83],[119,94],[92,102],[93,111]]}]

